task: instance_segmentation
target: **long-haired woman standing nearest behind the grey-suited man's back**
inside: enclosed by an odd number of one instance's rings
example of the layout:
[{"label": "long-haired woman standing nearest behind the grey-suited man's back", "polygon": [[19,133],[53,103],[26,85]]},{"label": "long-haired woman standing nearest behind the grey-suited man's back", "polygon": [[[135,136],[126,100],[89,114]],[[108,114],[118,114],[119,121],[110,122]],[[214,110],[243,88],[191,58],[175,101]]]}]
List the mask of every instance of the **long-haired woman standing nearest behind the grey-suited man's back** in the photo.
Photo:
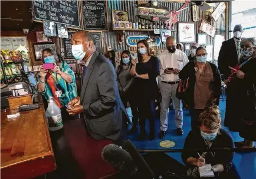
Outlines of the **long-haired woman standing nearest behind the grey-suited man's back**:
[{"label": "long-haired woman standing nearest behind the grey-suited man's back", "polygon": [[133,127],[130,130],[130,134],[137,131],[138,123],[138,111],[136,103],[134,102],[134,97],[132,95],[132,84],[133,77],[129,75],[129,71],[132,68],[132,55],[129,50],[124,50],[121,55],[120,65],[117,67],[117,85],[120,93],[120,97],[125,107],[127,107],[127,102],[130,104],[133,115]]}]

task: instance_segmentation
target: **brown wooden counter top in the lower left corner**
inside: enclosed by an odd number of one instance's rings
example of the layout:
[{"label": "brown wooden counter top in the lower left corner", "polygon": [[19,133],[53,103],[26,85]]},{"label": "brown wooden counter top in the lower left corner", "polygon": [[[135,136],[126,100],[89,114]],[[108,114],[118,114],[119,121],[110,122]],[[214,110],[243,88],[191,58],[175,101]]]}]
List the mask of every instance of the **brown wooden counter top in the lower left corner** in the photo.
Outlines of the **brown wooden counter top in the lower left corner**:
[{"label": "brown wooden counter top in the lower left corner", "polygon": [[44,107],[20,112],[1,110],[1,178],[33,178],[55,170]]}]

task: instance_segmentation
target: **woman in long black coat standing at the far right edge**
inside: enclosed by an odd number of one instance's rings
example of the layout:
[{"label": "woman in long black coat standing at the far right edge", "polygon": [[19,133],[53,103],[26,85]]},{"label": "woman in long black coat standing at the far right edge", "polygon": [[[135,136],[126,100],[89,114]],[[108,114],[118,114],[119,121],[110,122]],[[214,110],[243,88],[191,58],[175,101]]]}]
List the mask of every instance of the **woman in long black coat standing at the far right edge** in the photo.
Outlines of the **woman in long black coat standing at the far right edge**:
[{"label": "woman in long black coat standing at the far right edge", "polygon": [[255,147],[256,140],[256,40],[245,38],[240,43],[241,58],[225,81],[228,87],[224,126],[239,131],[244,141],[236,147]]}]

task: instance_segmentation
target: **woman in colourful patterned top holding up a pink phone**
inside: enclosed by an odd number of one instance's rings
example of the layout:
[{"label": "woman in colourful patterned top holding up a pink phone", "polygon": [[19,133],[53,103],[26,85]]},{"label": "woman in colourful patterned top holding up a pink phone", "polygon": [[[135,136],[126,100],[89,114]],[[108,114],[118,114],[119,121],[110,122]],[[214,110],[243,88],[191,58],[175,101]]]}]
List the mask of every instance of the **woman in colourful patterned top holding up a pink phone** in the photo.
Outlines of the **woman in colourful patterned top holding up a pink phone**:
[{"label": "woman in colourful patterned top holding up a pink phone", "polygon": [[42,62],[54,63],[55,66],[50,70],[41,67],[36,90],[47,101],[53,97],[58,107],[63,108],[77,96],[76,76],[66,62],[58,63],[58,56],[51,49],[42,50]]}]

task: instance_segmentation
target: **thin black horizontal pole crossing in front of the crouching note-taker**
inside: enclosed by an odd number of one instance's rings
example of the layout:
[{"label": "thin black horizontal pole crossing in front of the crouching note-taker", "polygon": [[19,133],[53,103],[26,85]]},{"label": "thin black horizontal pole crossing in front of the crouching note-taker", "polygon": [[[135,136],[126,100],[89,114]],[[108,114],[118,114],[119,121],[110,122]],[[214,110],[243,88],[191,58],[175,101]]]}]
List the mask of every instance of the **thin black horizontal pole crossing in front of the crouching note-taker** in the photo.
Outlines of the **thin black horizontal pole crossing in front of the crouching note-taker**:
[{"label": "thin black horizontal pole crossing in front of the crouching note-taker", "polygon": [[139,153],[150,153],[150,152],[160,152],[160,153],[182,153],[183,151],[230,151],[230,152],[255,152],[256,148],[189,148],[189,149],[137,149]]}]

